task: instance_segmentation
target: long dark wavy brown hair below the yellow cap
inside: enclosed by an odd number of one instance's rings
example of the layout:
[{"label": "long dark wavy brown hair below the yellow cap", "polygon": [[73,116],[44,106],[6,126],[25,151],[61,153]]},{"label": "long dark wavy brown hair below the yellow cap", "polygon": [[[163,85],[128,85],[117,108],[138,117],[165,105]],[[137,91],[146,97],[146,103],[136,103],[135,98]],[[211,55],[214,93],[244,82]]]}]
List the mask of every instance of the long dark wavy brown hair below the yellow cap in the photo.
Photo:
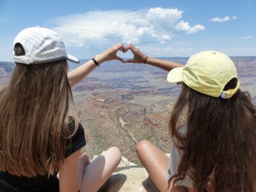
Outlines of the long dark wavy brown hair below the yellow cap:
[{"label": "long dark wavy brown hair below the yellow cap", "polygon": [[[232,79],[225,90],[234,88]],[[180,134],[182,115],[187,132]],[[193,180],[196,191],[256,191],[256,108],[250,94],[210,97],[182,85],[169,124],[173,145],[182,150],[177,174],[169,184]]]}]

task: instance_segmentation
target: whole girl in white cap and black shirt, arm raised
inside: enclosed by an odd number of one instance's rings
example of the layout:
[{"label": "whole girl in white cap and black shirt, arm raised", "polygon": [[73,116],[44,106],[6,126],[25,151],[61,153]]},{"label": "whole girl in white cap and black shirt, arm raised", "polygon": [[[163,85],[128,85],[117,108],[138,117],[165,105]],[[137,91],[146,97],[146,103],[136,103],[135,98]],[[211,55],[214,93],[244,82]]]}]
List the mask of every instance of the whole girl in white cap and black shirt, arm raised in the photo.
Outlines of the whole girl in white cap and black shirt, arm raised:
[{"label": "whole girl in white cap and black shirt, arm raised", "polygon": [[28,28],[16,36],[16,66],[0,97],[0,191],[97,191],[108,180],[120,150],[111,147],[92,163],[81,154],[86,141],[71,88],[104,61],[123,61],[119,50],[122,44],[68,72],[67,60],[79,60],[56,32]]}]

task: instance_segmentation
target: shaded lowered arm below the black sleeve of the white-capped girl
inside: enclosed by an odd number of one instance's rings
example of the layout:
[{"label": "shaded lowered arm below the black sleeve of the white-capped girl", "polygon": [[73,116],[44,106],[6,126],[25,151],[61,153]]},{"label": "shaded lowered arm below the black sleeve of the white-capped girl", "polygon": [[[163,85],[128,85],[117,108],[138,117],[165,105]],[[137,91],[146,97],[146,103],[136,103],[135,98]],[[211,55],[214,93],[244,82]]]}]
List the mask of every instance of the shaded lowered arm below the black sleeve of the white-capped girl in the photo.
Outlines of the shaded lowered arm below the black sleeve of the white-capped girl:
[{"label": "shaded lowered arm below the black sleeve of the white-capped girl", "polygon": [[64,164],[59,170],[60,192],[79,191],[80,186],[77,179],[77,166],[80,153],[81,149],[64,159]]}]

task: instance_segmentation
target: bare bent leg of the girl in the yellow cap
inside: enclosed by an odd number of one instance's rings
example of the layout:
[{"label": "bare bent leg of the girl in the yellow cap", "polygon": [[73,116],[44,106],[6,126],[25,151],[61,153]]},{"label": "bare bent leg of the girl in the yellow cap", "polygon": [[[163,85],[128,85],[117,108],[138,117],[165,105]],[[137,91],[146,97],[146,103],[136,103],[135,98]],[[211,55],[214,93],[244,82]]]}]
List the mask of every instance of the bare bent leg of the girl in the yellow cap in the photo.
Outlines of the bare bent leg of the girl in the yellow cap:
[{"label": "bare bent leg of the girl in the yellow cap", "polygon": [[169,158],[159,148],[149,141],[143,140],[136,145],[136,153],[159,191],[187,191],[182,186],[170,186],[168,189],[166,175],[168,173]]}]

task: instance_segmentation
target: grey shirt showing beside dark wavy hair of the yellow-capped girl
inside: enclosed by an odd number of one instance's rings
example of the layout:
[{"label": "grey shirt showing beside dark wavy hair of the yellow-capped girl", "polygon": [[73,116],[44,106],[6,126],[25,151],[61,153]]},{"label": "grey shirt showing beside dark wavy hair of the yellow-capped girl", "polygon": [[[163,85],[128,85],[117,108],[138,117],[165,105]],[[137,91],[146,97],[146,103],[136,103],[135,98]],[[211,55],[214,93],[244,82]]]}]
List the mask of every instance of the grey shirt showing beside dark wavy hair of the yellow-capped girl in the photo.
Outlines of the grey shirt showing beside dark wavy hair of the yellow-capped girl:
[{"label": "grey shirt showing beside dark wavy hair of the yellow-capped girl", "polygon": [[[185,134],[187,130],[186,125],[183,126],[180,129],[181,134]],[[172,175],[175,175],[177,173],[180,159],[182,157],[182,150],[179,150],[177,147],[172,145],[171,152],[170,152],[170,161],[169,161],[169,170],[168,175],[166,176],[166,179],[169,180]],[[193,181],[189,177],[189,175],[186,175],[185,179],[178,180],[175,184],[179,186],[185,186],[187,188],[193,188]]]}]

